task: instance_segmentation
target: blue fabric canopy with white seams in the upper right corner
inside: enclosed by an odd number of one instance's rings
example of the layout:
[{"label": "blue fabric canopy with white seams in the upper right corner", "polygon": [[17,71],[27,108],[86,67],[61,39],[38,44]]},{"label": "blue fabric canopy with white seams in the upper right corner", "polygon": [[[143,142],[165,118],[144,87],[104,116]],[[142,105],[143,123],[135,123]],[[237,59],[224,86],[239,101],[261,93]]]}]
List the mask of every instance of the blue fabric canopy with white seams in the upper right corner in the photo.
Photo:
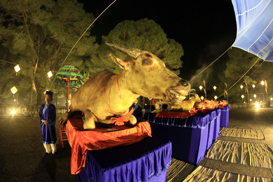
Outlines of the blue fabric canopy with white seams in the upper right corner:
[{"label": "blue fabric canopy with white seams in the upper right corner", "polygon": [[232,0],[237,37],[233,47],[273,61],[273,0]]}]

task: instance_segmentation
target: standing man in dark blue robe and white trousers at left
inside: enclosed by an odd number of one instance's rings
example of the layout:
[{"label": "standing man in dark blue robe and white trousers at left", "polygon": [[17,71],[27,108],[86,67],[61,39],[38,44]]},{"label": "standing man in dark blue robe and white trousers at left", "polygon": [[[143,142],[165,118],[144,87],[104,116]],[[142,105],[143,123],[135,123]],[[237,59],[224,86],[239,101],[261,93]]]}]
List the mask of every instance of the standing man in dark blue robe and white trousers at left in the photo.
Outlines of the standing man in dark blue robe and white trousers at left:
[{"label": "standing man in dark blue robe and white trousers at left", "polygon": [[46,149],[45,155],[49,153],[57,154],[57,136],[56,136],[56,109],[50,101],[53,100],[53,92],[46,91],[45,104],[43,104],[39,111],[39,118],[41,120],[40,127],[42,128],[42,140]]}]

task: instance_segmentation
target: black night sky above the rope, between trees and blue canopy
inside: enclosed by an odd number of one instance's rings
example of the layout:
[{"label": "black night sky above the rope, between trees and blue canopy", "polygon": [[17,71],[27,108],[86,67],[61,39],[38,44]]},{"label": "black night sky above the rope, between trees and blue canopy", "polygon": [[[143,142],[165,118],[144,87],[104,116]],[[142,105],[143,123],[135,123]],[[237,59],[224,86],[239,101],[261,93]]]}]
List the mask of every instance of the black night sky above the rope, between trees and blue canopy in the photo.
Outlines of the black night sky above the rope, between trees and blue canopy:
[{"label": "black night sky above the rope, between trees and blue canopy", "polygon": [[[78,0],[95,17],[113,1]],[[91,34],[101,44],[101,36],[108,35],[118,23],[142,18],[154,20],[168,38],[183,46],[181,75],[216,60],[236,38],[231,0],[116,0],[94,23]]]}]

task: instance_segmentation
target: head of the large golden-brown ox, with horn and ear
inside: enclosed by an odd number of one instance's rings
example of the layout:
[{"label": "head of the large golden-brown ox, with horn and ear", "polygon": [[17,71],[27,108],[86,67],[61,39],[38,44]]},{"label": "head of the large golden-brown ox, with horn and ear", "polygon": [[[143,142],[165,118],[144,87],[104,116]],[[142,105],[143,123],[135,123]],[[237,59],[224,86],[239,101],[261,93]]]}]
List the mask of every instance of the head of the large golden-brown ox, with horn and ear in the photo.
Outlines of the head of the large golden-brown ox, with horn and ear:
[{"label": "head of the large golden-brown ox, with horn and ear", "polygon": [[125,77],[127,87],[133,93],[171,103],[179,103],[188,95],[190,83],[166,68],[165,63],[155,55],[110,42],[106,44],[132,57],[128,61],[122,61],[109,53],[109,57],[124,70],[121,75]]}]

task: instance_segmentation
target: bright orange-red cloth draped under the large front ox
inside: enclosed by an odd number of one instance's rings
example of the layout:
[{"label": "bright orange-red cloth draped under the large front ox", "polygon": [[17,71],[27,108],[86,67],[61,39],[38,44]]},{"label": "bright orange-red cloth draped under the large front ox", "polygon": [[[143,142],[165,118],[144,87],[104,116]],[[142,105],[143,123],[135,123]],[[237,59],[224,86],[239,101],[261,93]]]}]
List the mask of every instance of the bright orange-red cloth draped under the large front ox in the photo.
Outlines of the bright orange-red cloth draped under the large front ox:
[{"label": "bright orange-red cloth draped under the large front ox", "polygon": [[95,131],[83,130],[83,121],[81,118],[70,118],[65,125],[68,142],[71,146],[70,167],[72,175],[80,173],[82,168],[85,167],[87,150],[130,145],[142,140],[146,136],[151,136],[151,127],[147,121],[139,122],[133,128],[125,125],[114,125],[111,129],[119,130],[107,132],[106,128],[97,125]]}]

